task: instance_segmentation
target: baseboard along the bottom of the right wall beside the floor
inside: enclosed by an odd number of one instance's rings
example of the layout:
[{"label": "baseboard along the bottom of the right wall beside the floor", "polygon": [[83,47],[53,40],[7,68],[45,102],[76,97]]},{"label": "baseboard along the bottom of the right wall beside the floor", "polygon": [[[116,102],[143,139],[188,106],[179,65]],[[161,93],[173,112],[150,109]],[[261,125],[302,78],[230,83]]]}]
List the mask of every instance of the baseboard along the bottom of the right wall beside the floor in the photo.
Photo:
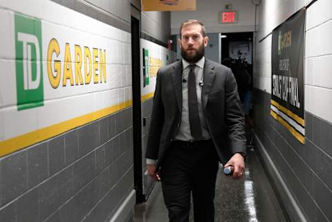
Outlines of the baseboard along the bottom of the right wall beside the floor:
[{"label": "baseboard along the bottom of the right wall beside the floor", "polygon": [[257,137],[257,134],[255,133],[254,142],[255,148],[261,157],[261,164],[264,165],[264,169],[268,174],[268,179],[273,185],[273,190],[275,190],[277,199],[282,205],[281,207],[284,211],[287,221],[308,221],[292,192],[288,189],[288,186],[282,178],[282,175],[279,173],[275,163],[273,163],[270,155],[268,152],[266,152],[263,143],[261,143],[260,139]]}]

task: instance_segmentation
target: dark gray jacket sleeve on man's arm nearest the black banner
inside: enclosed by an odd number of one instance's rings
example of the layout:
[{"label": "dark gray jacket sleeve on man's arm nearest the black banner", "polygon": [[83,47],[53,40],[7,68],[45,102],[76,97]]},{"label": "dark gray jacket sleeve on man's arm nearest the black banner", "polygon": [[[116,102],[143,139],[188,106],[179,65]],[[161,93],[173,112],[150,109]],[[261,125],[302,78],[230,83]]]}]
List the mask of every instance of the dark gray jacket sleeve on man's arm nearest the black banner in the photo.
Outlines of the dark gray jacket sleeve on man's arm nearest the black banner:
[{"label": "dark gray jacket sleeve on man's arm nearest the black banner", "polygon": [[232,154],[246,154],[246,133],[241,110],[241,102],[237,92],[237,82],[229,69],[225,82],[225,121],[228,127],[228,137]]}]

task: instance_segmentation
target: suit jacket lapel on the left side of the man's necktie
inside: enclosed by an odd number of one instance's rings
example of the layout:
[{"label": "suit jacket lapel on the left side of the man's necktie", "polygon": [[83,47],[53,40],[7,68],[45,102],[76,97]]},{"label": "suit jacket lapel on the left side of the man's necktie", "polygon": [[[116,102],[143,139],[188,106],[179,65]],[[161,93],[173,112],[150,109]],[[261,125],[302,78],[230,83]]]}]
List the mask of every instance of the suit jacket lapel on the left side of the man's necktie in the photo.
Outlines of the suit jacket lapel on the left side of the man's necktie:
[{"label": "suit jacket lapel on the left side of the man's necktie", "polygon": [[182,112],[182,61],[173,65],[172,82],[175,89],[176,101],[178,102],[178,110]]}]

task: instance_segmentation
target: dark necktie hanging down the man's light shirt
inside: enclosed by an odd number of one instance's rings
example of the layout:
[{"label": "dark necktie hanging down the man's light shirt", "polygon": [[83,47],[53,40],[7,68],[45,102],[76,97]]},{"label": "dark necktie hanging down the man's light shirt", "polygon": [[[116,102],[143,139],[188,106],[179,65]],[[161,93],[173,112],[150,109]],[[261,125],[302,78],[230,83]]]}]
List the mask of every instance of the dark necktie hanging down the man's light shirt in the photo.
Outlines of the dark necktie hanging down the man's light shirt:
[{"label": "dark necktie hanging down the man's light shirt", "polygon": [[190,72],[188,76],[188,108],[189,108],[189,123],[190,132],[195,141],[202,139],[201,121],[199,120],[199,103],[197,102],[196,92],[196,77],[195,77],[196,65],[190,65]]}]

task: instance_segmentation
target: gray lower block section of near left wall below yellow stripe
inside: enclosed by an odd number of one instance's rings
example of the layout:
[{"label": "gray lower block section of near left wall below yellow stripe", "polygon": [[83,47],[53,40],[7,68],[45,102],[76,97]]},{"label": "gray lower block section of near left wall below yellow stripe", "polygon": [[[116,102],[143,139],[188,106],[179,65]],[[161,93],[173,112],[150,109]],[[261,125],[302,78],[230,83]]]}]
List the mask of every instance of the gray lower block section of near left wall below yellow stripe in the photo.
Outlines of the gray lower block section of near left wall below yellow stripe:
[{"label": "gray lower block section of near left wall below yellow stripe", "polygon": [[105,221],[133,190],[132,109],[0,160],[0,221]]}]

